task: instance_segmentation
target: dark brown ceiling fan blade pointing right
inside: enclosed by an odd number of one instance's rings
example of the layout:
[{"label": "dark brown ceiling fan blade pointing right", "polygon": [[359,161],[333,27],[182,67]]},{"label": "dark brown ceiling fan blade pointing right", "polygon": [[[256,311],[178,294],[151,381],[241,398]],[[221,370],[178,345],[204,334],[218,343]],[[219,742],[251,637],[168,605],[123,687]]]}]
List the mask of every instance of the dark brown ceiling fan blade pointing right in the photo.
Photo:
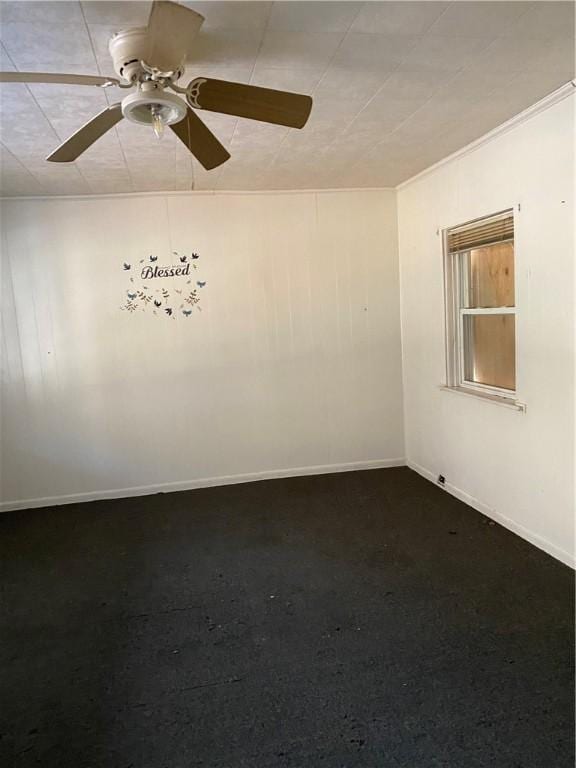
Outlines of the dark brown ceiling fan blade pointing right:
[{"label": "dark brown ceiling fan blade pointing right", "polygon": [[186,98],[192,107],[290,128],[302,128],[312,109],[310,96],[209,77],[193,80]]}]

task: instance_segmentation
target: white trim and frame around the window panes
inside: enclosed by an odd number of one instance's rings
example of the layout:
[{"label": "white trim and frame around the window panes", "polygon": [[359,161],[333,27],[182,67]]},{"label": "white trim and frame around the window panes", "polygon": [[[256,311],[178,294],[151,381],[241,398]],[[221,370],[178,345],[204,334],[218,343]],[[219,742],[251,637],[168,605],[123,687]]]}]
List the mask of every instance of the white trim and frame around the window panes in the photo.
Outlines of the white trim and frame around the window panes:
[{"label": "white trim and frame around the window panes", "polygon": [[[506,212],[508,213],[508,212]],[[486,218],[491,218],[486,216]],[[514,217],[515,218],[515,217]],[[516,222],[515,222],[516,223]],[[516,398],[517,389],[503,389],[488,384],[479,384],[469,381],[464,375],[464,340],[463,328],[465,315],[518,315],[518,307],[489,307],[489,308],[464,308],[459,305],[462,289],[462,275],[460,274],[460,254],[449,253],[448,233],[450,227],[444,229],[442,247],[444,255],[444,298],[445,298],[445,331],[446,331],[446,384],[441,385],[442,390],[470,395],[488,400],[499,405],[507,405],[520,411],[526,410],[526,405]],[[514,287],[516,294],[516,287]],[[516,304],[516,295],[514,296]],[[515,345],[515,365],[517,370],[518,346]]]}]

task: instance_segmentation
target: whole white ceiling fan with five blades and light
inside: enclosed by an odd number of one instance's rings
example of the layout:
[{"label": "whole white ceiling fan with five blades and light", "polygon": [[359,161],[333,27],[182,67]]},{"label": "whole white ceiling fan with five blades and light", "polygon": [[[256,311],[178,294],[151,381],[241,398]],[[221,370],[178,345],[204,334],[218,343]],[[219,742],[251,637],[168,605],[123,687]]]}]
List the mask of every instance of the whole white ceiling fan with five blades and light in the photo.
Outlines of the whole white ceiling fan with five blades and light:
[{"label": "whole white ceiling fan with five blades and light", "polygon": [[[46,159],[70,163],[123,118],[151,125],[160,137],[166,125],[188,147],[204,168],[225,163],[229,152],[194,110],[221,112],[274,125],[302,128],[310,115],[312,99],[227,80],[197,77],[183,88],[186,54],[204,17],[168,0],[155,0],[147,27],[128,29],[110,40],[109,50],[119,80],[97,75],[46,72],[0,72],[0,82],[62,83],[136,90],[89,120]],[[179,96],[182,94],[185,103]]]}]

